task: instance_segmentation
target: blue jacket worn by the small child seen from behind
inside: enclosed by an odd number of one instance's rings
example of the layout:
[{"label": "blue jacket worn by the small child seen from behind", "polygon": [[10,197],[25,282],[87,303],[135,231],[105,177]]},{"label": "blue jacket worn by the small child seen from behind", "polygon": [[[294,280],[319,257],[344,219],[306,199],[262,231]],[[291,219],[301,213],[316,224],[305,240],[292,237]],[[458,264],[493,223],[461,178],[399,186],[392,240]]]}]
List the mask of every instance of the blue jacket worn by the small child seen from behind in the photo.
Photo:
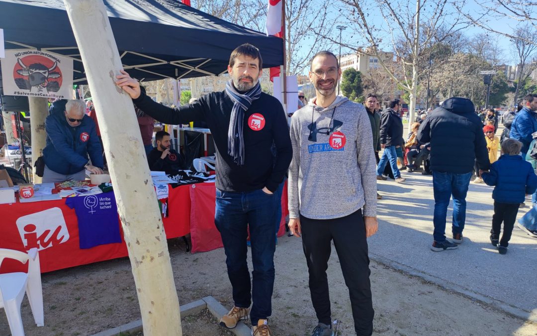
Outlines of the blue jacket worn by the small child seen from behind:
[{"label": "blue jacket worn by the small child seen from behind", "polygon": [[520,155],[503,154],[481,177],[488,185],[496,185],[492,198],[499,203],[523,203],[526,194],[537,189],[537,175]]}]

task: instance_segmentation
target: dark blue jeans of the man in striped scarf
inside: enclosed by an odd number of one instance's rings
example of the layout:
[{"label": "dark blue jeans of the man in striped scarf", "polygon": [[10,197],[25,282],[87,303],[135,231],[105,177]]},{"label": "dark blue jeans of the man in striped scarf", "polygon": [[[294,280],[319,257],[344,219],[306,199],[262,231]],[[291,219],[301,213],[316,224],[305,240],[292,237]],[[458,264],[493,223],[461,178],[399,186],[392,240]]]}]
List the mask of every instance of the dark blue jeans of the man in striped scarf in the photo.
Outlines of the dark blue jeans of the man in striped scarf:
[{"label": "dark blue jeans of the man in striped scarf", "polygon": [[[259,319],[272,314],[272,290],[274,287],[274,214],[275,195],[263,190],[228,192],[216,189],[214,223],[220,231],[229,281],[233,288],[235,306],[248,308],[253,301],[250,319],[257,325]],[[246,262],[246,237],[250,227],[252,246],[252,285]],[[251,293],[250,293],[250,288]]]}]

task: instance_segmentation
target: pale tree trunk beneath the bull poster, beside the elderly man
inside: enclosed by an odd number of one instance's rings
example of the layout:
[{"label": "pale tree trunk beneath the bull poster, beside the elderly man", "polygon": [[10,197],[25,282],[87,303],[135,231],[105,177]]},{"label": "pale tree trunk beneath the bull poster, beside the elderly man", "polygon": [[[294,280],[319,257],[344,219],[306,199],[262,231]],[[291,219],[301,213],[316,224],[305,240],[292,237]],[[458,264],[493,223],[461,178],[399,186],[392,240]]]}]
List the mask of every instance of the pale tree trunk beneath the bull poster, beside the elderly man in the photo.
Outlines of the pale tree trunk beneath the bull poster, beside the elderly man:
[{"label": "pale tree trunk beneath the bull poster, beside the elderly man", "polygon": [[[47,133],[45,131],[45,119],[48,116],[48,99],[41,97],[28,97],[30,102],[31,131],[32,131],[32,161],[35,162],[43,154]],[[33,182],[41,183],[41,177],[33,172]]]}]

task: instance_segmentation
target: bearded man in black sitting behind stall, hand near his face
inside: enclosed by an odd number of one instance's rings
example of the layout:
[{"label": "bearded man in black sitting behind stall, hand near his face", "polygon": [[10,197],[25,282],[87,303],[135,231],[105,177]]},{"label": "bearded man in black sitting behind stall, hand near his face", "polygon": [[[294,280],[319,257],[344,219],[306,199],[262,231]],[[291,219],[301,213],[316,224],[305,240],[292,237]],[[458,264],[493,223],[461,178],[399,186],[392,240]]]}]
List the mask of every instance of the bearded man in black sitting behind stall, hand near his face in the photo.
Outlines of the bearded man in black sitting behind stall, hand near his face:
[{"label": "bearded man in black sitting behind stall, hand near his face", "polygon": [[165,171],[166,174],[177,173],[178,170],[184,169],[185,159],[183,155],[171,148],[170,134],[158,131],[155,134],[155,140],[157,147],[153,148],[147,157],[149,169]]}]

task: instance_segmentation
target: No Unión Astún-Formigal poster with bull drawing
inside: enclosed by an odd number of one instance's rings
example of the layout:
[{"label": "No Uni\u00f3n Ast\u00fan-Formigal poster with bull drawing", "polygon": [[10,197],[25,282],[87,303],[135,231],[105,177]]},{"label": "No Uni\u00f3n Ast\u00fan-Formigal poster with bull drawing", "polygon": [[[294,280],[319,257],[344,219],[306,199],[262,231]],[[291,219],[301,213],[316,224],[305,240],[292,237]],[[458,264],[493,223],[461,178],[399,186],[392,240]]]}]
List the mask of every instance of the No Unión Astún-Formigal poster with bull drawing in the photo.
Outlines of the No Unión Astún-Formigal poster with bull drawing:
[{"label": "No Uni\u00f3n Ast\u00fan-Formigal poster with bull drawing", "polygon": [[2,74],[6,96],[72,97],[72,59],[62,55],[28,49],[6,50]]}]

